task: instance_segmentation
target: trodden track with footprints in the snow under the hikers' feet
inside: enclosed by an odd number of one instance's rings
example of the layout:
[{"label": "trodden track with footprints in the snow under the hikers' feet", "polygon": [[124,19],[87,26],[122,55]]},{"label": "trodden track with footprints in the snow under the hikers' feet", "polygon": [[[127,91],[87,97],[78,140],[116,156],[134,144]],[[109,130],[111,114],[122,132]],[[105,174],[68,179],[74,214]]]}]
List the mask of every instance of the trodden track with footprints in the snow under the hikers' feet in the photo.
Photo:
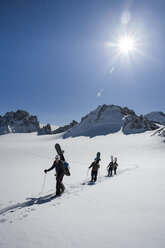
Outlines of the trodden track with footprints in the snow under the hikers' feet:
[{"label": "trodden track with footprints in the snow under the hikers' feet", "polygon": [[[94,203],[94,204],[98,203],[99,201],[97,199],[91,198],[91,197],[86,197],[84,195],[82,196],[80,193],[84,190],[90,190],[91,188],[93,188],[91,186],[94,186],[94,185],[97,186],[98,184],[103,183],[103,182],[110,182],[111,180],[117,179],[118,176],[120,176],[126,172],[138,169],[138,168],[139,168],[138,165],[133,164],[130,167],[127,167],[127,168],[122,169],[122,170],[118,170],[117,175],[115,175],[113,177],[108,177],[107,175],[106,176],[98,175],[98,180],[96,183],[91,183],[91,182],[89,182],[89,179],[88,179],[86,181],[82,181],[82,182],[79,182],[77,184],[68,185],[67,190],[65,191],[65,193],[61,197],[56,197],[54,192],[53,192],[53,193],[47,194],[45,196],[29,197],[29,198],[26,198],[26,200],[24,202],[18,202],[16,204],[7,206],[5,208],[1,208],[0,209],[0,216],[1,216],[0,224],[4,223],[6,221],[8,221],[9,223],[13,223],[16,220],[22,220],[23,218],[28,217],[28,215],[32,211],[37,210],[37,207],[35,207],[35,206],[50,203],[51,201],[53,202],[53,204],[51,206],[55,206],[56,204],[60,204],[62,199],[64,200],[65,198],[71,197],[72,195],[80,196],[80,197],[84,198],[85,200],[87,200],[91,203]],[[1,204],[1,206],[2,206],[2,204]],[[15,215],[15,212],[17,212],[17,213],[19,212],[19,215],[18,214]]]}]

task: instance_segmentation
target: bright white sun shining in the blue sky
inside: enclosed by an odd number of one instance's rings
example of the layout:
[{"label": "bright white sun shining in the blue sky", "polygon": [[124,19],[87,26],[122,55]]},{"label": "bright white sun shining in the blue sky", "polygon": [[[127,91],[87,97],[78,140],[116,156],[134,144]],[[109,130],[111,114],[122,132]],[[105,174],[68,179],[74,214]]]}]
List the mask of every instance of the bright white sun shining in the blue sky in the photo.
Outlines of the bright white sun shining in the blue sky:
[{"label": "bright white sun shining in the blue sky", "polygon": [[120,53],[128,55],[132,53],[136,48],[135,40],[131,36],[121,37],[119,39],[117,47]]}]

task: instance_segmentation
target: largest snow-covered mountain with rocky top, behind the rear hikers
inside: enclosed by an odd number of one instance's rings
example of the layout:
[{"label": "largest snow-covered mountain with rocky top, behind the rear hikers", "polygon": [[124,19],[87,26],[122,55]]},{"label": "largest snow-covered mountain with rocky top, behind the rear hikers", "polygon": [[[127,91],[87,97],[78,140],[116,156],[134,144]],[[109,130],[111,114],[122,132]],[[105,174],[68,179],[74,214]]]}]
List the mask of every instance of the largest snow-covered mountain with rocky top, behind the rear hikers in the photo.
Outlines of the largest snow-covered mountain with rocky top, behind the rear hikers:
[{"label": "largest snow-covered mountain with rocky top, behind the rear hikers", "polygon": [[145,116],[137,116],[127,107],[115,105],[99,106],[81,119],[81,122],[64,134],[64,138],[106,135],[122,130],[124,134],[155,130],[158,126]]}]

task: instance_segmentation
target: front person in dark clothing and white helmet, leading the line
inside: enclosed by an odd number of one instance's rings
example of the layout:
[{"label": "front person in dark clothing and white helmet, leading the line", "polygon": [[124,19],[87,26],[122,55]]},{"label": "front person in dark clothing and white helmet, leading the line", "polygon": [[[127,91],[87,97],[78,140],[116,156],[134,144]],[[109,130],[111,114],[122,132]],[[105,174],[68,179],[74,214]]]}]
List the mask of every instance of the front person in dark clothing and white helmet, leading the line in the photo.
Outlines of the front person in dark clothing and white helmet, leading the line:
[{"label": "front person in dark clothing and white helmet, leading the line", "polygon": [[44,172],[47,173],[48,171],[51,171],[53,169],[55,169],[56,171],[56,195],[60,196],[65,190],[65,186],[62,183],[65,167],[64,163],[60,160],[59,155],[55,157],[55,161],[52,167],[50,167],[48,170],[45,169]]}]

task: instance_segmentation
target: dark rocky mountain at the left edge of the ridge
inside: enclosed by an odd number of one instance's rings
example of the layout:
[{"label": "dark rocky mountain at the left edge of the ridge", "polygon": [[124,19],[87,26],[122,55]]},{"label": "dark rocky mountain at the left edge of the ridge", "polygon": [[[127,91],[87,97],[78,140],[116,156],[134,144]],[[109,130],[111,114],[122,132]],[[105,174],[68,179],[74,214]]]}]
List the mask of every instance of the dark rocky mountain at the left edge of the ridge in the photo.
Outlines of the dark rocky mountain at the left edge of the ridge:
[{"label": "dark rocky mountain at the left edge of the ridge", "polygon": [[0,134],[31,133],[37,132],[39,128],[37,116],[23,110],[7,112],[0,116]]}]

